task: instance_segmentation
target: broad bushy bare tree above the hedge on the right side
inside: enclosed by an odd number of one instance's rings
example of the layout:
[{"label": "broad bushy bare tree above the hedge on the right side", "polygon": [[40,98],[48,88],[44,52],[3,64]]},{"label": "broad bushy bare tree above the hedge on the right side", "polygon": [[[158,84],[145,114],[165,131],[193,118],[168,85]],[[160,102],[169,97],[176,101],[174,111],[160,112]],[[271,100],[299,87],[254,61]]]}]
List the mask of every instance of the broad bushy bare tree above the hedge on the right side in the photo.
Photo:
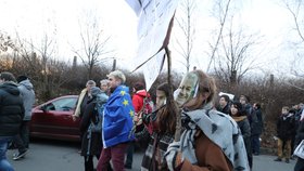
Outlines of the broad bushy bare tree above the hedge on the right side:
[{"label": "broad bushy bare tree above the hedge on the right side", "polygon": [[258,66],[253,48],[261,39],[257,35],[246,35],[243,28],[233,30],[232,22],[227,34],[223,34],[214,56],[214,70],[231,87],[237,86],[243,76]]}]

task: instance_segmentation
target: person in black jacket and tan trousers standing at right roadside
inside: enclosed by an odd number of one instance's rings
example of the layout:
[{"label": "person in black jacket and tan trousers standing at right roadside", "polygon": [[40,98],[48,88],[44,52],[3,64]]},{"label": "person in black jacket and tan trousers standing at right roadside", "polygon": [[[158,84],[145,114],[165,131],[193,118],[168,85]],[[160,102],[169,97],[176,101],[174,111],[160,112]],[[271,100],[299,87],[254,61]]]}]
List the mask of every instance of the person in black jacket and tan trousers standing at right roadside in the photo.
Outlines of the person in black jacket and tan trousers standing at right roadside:
[{"label": "person in black jacket and tan trousers standing at right roadside", "polygon": [[294,119],[289,114],[289,107],[283,106],[282,113],[277,121],[277,137],[278,137],[278,158],[275,161],[282,161],[283,158],[283,144],[287,148],[286,162],[289,163],[291,154],[291,139],[294,131]]}]

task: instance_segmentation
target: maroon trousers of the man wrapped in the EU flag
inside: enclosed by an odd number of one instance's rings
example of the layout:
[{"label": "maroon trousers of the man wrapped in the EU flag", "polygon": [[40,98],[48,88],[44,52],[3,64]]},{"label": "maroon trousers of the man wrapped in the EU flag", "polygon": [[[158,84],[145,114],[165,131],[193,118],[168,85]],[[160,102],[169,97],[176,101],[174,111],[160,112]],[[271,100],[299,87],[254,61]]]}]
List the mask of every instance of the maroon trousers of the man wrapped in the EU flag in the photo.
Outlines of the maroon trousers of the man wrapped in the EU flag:
[{"label": "maroon trousers of the man wrapped in the EU flag", "polygon": [[128,143],[117,144],[112,147],[103,148],[101,156],[98,160],[97,170],[106,171],[112,160],[113,170],[124,171],[125,153],[127,150]]}]

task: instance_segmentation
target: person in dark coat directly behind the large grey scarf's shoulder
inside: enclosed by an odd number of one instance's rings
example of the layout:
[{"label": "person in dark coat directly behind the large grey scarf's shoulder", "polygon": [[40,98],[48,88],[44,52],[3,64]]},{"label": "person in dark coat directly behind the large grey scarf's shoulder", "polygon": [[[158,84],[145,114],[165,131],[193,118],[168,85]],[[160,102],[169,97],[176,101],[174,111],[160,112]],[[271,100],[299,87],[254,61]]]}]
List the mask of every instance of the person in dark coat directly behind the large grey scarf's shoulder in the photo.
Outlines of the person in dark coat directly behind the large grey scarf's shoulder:
[{"label": "person in dark coat directly behind the large grey scarf's shoulder", "polygon": [[246,117],[246,113],[240,102],[233,102],[231,105],[231,117],[238,123],[246,148],[249,167],[252,170],[252,148],[251,148],[251,128],[249,123],[249,119]]}]

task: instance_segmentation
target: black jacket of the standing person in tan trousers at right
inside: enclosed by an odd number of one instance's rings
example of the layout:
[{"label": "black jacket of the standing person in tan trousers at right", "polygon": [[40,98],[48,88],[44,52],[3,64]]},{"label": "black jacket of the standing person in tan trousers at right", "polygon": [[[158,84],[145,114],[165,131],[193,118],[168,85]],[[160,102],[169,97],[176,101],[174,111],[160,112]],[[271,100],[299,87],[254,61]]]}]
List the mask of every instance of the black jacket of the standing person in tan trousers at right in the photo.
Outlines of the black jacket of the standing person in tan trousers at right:
[{"label": "black jacket of the standing person in tan trousers at right", "polygon": [[281,115],[277,121],[277,136],[282,140],[291,140],[294,135],[294,117]]}]

